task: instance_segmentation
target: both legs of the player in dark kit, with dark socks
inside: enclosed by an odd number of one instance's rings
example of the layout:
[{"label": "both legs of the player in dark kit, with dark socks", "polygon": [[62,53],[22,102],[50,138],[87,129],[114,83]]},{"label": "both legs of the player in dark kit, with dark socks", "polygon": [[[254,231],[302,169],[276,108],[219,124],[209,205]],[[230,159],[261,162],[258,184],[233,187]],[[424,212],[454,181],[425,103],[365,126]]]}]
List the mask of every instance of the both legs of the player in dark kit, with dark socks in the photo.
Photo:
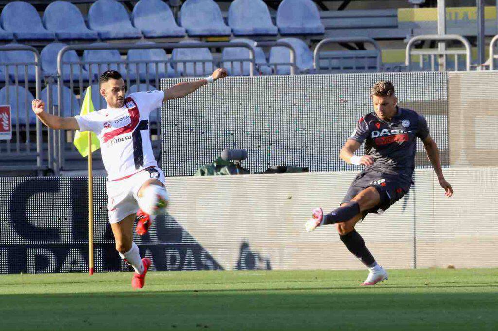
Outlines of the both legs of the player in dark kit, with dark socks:
[{"label": "both legs of the player in dark kit, with dark socks", "polygon": [[[378,205],[379,202],[380,195],[377,189],[372,186],[367,187],[351,199],[351,202],[343,203],[341,207],[327,215],[323,214],[321,208],[315,209],[313,217],[306,223],[307,231],[313,231],[319,225],[336,225],[337,232],[346,248],[369,268],[369,275],[362,285],[375,285],[387,279],[387,273],[375,261],[363,237],[355,230],[355,225],[363,218],[363,212]],[[354,216],[346,221],[340,221],[351,215]]]}]

